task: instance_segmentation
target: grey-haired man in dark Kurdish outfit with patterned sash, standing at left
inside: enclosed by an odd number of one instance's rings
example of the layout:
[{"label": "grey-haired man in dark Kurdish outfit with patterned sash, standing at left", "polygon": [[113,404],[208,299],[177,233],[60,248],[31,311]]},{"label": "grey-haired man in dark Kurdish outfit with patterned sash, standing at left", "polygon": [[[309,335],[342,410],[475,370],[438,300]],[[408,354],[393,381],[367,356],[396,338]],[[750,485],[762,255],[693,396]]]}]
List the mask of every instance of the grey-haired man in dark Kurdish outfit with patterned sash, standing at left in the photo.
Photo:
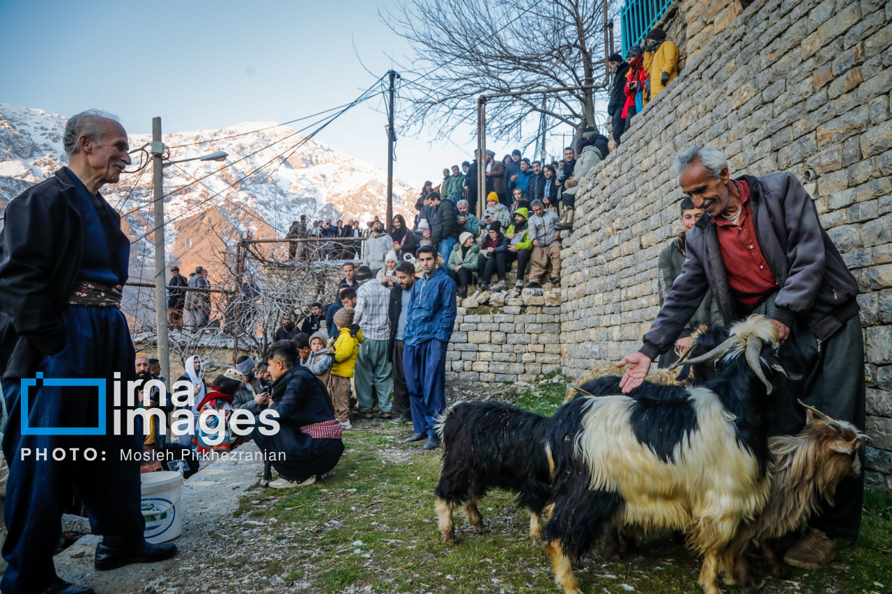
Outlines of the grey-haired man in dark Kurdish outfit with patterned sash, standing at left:
[{"label": "grey-haired man in dark Kurdish outfit with patterned sash, standing at left", "polygon": [[[96,569],[160,561],[177,551],[176,545],[143,538],[139,461],[123,459],[142,450],[143,436],[112,433],[114,374],[120,372],[122,382],[136,376],[133,342],[119,309],[129,241],[98,190],[117,183],[130,162],[127,133],[113,116],[91,110],[69,120],[62,142],[69,166],[12,200],[0,235],[0,370],[10,411],[3,443],[10,463],[4,594],[93,591],[63,582],[53,566],[72,491],[87,507],[93,532],[103,535]],[[47,379],[103,378],[105,433],[83,434],[100,421],[95,386],[39,381],[29,391],[23,427],[21,380],[39,373]],[[33,434],[35,427],[73,434]],[[77,448],[79,455],[55,461],[33,453],[55,448]],[[88,461],[87,448],[103,453]],[[21,455],[26,449],[30,456]]]}]

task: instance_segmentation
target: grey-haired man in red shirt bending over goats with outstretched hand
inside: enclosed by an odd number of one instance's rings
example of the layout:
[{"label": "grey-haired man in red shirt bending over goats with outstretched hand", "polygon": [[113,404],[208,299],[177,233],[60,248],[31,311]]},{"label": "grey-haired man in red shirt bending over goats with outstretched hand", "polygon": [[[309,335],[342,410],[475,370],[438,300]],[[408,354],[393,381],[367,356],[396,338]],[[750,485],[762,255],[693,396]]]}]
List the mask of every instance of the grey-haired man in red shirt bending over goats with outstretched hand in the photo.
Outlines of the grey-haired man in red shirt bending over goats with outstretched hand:
[{"label": "grey-haired man in red shirt bending over goats with outstretched hand", "polygon": [[[863,430],[858,285],[811,196],[787,172],[731,179],[723,153],[708,147],[679,153],[674,169],[681,189],[706,214],[688,234],[681,276],[644,345],[617,364],[629,366],[623,391],[641,384],[651,360],[672,346],[708,289],[725,323],[760,313],[778,329],[780,360],[792,373],[772,392],[770,434],[797,433],[805,425],[797,399]],[[834,539],[857,538],[862,499],[863,474],[839,483],[836,505],[822,505],[784,560],[806,568],[829,563]]]}]

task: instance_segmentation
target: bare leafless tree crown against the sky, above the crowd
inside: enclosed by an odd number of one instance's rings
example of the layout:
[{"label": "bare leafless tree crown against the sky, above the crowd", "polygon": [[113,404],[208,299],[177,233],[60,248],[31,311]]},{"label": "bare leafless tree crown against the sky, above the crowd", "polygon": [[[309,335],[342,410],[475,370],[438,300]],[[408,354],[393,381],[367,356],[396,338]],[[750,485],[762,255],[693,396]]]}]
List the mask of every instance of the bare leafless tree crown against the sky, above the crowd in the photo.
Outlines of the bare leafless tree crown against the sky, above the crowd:
[{"label": "bare leafless tree crown against the sky, above the crowd", "polygon": [[[477,95],[606,83],[605,6],[610,19],[617,0],[410,0],[379,11],[413,50],[411,66],[401,66],[401,94],[411,105],[400,112],[404,123],[447,138],[462,124],[476,124]],[[541,134],[542,115],[546,133],[562,124],[581,131],[604,120],[595,99],[606,93],[605,87],[491,102],[488,132],[528,146]]]}]

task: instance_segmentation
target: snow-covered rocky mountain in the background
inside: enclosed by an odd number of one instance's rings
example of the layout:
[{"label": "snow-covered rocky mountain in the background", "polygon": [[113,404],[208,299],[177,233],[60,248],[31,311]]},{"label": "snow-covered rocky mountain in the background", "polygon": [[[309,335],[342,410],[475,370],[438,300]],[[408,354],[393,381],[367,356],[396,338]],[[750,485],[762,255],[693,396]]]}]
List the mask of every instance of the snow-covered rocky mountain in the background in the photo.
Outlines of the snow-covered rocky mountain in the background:
[{"label": "snow-covered rocky mountain in the background", "polygon": [[[62,150],[66,121],[47,111],[0,103],[0,211],[25,188],[68,162]],[[151,136],[130,135],[129,140],[131,149],[147,148]],[[255,238],[284,236],[301,214],[308,220],[359,219],[363,225],[375,215],[384,219],[384,171],[304,139],[292,128],[244,123],[165,134],[163,140],[171,160],[228,153],[225,162],[190,161],[164,168],[164,190],[169,194],[164,199],[167,260],[178,262],[184,271],[219,261],[224,239],[248,232]],[[134,163],[128,169],[137,169],[146,153],[132,156]],[[419,189],[394,179],[394,213],[409,219]],[[134,242],[131,279],[151,279],[151,164],[140,173],[122,176],[120,184],[105,186],[102,192],[121,213],[122,227]]]}]

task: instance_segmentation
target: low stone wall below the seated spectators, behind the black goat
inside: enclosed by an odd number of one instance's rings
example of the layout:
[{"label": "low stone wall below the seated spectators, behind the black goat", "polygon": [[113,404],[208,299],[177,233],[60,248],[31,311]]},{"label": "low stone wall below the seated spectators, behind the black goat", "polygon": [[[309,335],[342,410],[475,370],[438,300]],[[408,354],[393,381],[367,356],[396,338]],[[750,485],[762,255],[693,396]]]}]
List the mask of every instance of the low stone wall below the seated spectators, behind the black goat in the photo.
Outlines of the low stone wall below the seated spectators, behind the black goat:
[{"label": "low stone wall below the seated spectators, behind the black goat", "polygon": [[461,300],[446,353],[447,379],[532,382],[560,367],[560,293],[524,293],[478,292]]}]

